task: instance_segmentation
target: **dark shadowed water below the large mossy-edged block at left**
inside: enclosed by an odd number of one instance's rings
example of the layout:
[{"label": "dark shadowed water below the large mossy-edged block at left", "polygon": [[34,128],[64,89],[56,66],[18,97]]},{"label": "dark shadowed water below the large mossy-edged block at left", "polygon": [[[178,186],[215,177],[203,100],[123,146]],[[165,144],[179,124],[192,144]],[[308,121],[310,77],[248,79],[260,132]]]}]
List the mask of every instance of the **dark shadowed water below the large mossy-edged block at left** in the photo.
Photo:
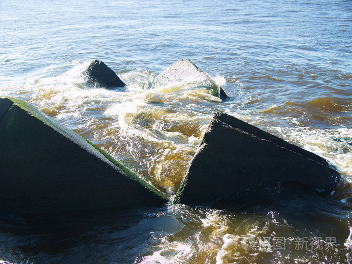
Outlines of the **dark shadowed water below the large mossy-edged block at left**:
[{"label": "dark shadowed water below the large mossy-edged block at left", "polygon": [[57,215],[0,216],[1,259],[13,263],[133,263],[158,230],[150,215],[133,208]]}]

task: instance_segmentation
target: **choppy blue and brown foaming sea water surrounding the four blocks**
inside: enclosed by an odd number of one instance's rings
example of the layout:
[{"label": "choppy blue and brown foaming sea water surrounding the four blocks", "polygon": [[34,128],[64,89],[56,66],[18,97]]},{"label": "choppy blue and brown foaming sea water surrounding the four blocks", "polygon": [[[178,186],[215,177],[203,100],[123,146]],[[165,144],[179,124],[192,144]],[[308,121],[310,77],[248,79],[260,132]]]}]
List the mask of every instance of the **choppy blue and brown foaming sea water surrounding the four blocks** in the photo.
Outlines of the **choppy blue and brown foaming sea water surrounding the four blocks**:
[{"label": "choppy blue and brown foaming sea water surrounding the four blocks", "polygon": [[[3,214],[0,263],[352,263],[351,39],[350,1],[0,1],[0,96],[33,104],[165,193],[216,111],[323,156],[343,178],[327,197],[278,186],[270,201],[226,207]],[[229,99],[192,80],[152,84],[187,58]],[[74,78],[92,59],[125,89]]]}]

